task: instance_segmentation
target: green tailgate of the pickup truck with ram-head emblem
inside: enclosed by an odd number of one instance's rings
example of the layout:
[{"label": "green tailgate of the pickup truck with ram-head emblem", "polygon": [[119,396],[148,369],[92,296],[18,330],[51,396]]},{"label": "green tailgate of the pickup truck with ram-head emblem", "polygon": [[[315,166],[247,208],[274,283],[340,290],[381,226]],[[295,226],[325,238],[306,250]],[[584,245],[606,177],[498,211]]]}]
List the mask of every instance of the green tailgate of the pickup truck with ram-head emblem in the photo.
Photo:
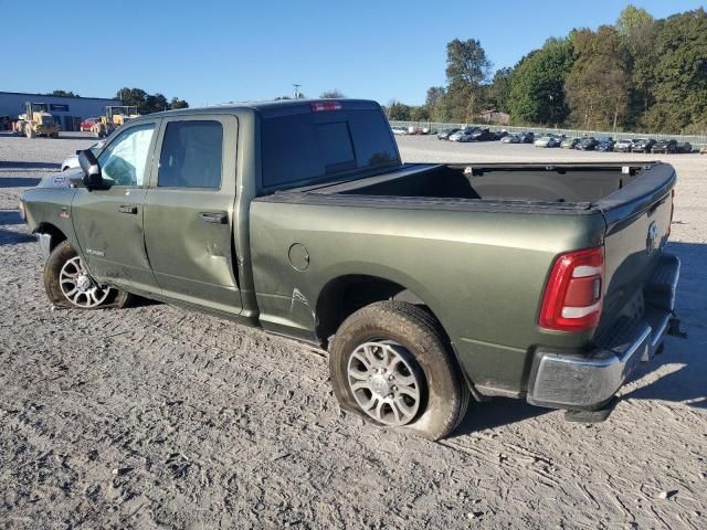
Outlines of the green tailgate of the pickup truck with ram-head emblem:
[{"label": "green tailgate of the pickup truck with ram-head emblem", "polygon": [[675,180],[672,166],[653,165],[597,204],[606,221],[600,330],[620,315],[643,315],[643,287],[654,274],[669,234]]}]

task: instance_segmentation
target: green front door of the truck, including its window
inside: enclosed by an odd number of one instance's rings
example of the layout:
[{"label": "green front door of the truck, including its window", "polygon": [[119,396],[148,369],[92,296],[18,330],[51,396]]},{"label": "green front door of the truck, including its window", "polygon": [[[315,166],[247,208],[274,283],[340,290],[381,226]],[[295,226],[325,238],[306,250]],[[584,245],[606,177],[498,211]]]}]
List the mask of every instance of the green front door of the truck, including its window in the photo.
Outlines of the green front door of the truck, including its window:
[{"label": "green front door of the truck, including its window", "polygon": [[158,120],[126,127],[98,156],[105,190],[80,188],[72,219],[93,276],[127,290],[155,290],[145,252],[143,206],[149,182]]}]

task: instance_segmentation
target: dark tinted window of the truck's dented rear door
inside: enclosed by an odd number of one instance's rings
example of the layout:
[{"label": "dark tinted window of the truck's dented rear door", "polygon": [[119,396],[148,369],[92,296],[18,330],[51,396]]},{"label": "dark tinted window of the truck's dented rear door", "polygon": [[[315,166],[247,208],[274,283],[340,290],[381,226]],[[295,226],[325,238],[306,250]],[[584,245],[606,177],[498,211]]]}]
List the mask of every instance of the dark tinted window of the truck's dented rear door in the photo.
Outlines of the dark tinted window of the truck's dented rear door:
[{"label": "dark tinted window of the truck's dented rear door", "polygon": [[220,121],[170,121],[162,140],[157,186],[219,189],[222,155]]}]

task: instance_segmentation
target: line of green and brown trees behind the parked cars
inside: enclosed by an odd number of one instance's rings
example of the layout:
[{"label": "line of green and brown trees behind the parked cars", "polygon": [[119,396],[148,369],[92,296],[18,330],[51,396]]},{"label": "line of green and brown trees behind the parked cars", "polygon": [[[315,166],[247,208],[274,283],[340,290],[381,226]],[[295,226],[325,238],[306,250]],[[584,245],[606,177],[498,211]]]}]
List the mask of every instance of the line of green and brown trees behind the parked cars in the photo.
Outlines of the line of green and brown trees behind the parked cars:
[{"label": "line of green and brown trees behind the parked cars", "polygon": [[656,20],[629,6],[613,25],[548,39],[493,75],[479,41],[455,39],[446,51],[446,85],[421,106],[391,102],[390,119],[474,123],[495,109],[514,125],[707,131],[704,8]]}]

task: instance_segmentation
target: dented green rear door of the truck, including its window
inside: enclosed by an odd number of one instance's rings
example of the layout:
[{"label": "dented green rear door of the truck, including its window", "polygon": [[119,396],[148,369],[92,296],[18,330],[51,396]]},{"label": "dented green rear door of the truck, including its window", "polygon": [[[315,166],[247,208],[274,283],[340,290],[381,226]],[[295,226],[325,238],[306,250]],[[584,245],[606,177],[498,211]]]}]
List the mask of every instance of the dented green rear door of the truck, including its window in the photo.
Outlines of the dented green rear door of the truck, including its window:
[{"label": "dented green rear door of the truck, including its window", "polygon": [[165,295],[241,312],[234,274],[238,119],[165,118],[145,201],[145,244]]}]

